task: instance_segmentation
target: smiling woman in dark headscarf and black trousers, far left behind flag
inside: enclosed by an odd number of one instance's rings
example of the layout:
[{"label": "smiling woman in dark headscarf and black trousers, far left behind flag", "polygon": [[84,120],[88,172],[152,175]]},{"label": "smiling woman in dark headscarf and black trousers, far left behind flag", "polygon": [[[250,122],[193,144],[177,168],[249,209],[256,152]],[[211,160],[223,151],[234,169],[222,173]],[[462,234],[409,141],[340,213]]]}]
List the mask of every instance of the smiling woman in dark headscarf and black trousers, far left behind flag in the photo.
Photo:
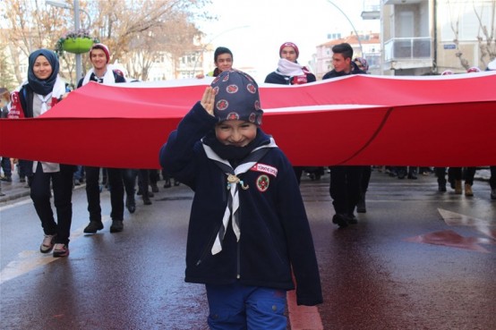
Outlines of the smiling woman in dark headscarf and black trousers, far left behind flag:
[{"label": "smiling woman in dark headscarf and black trousers, far left behind flag", "polygon": [[[46,113],[66,95],[64,80],[59,75],[56,54],[38,49],[30,54],[28,80],[12,96],[11,118],[36,118]],[[69,235],[73,219],[73,172],[75,166],[30,161],[28,182],[30,198],[45,233],[39,250],[54,257],[69,255]],[[50,183],[54,193],[56,218],[50,204]]]}]

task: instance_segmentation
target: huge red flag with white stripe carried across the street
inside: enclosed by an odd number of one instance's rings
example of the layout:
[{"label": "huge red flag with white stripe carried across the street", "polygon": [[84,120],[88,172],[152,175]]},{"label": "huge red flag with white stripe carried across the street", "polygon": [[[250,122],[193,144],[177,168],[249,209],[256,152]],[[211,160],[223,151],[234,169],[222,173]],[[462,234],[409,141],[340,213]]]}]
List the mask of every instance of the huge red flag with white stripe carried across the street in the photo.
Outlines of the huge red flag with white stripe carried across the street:
[{"label": "huge red flag with white stripe carried across the street", "polygon": [[[159,148],[208,82],[89,83],[38,118],[0,120],[0,155],[158,168]],[[494,72],[261,84],[261,127],[294,165],[495,165],[494,86]]]}]

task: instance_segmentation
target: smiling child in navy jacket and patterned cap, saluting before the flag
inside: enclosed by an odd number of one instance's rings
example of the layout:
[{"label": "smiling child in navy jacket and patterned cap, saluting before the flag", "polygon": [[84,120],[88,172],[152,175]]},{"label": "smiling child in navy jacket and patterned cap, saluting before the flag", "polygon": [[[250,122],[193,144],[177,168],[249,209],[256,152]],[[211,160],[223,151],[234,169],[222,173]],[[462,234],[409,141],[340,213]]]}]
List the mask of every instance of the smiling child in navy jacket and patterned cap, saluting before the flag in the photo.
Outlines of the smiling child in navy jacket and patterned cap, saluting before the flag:
[{"label": "smiling child in navy jacket and patterned cap, saluting before the flag", "polygon": [[211,329],[286,329],[286,291],[322,302],[312,233],[292,165],[261,131],[257,83],[222,72],[160,150],[195,191],[185,281],[204,283]]}]

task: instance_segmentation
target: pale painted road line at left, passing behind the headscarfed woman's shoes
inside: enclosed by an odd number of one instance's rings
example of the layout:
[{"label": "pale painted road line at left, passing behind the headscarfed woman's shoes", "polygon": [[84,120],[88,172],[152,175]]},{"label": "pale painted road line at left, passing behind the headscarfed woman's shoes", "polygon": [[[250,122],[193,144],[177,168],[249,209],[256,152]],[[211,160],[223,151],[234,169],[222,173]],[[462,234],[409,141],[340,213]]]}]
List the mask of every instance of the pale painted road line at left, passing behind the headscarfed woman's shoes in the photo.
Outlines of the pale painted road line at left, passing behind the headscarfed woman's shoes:
[{"label": "pale painted road line at left, passing behind the headscarfed woman's shoes", "polygon": [[[104,216],[102,222],[104,225],[109,223],[110,216]],[[86,233],[83,233],[84,227],[86,227],[86,224],[71,233],[71,241],[76,241],[82,235],[86,235]],[[52,253],[41,253],[39,250],[21,251],[17,257],[0,272],[0,285],[58,259],[59,258],[54,258]]]}]

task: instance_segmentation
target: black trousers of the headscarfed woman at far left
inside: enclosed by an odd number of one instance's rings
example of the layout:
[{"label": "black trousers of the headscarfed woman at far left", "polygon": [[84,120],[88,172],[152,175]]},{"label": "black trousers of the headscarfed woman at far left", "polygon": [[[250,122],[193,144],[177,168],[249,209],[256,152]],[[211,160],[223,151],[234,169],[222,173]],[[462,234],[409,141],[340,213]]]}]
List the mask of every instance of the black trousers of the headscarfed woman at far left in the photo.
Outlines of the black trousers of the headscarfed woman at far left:
[{"label": "black trousers of the headscarfed woman at far left", "polygon": [[[73,165],[60,165],[60,172],[43,173],[38,163],[36,173],[30,176],[30,197],[41,220],[43,232],[56,234],[56,243],[69,243],[71,223],[73,221]],[[54,190],[54,205],[57,222],[50,204],[50,181]]]}]

